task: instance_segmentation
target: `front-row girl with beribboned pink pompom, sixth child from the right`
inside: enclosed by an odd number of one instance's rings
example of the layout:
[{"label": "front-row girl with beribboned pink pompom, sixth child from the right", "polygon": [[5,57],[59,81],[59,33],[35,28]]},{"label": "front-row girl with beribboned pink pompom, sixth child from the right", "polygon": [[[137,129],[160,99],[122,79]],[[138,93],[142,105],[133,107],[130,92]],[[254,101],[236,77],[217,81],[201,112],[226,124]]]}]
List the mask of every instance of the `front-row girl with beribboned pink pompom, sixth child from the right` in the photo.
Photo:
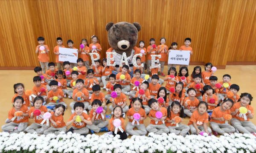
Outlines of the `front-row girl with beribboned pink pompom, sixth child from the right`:
[{"label": "front-row girl with beribboned pink pompom, sixth child from the right", "polygon": [[[132,106],[131,106],[132,105]],[[147,118],[146,112],[142,105],[140,98],[136,97],[131,101],[130,109],[127,112],[127,118],[129,119],[126,125],[126,132],[130,135],[143,136],[148,133],[144,125],[143,120]],[[134,114],[140,114],[140,119],[134,119]],[[138,130],[134,130],[134,127],[137,127]]]}]

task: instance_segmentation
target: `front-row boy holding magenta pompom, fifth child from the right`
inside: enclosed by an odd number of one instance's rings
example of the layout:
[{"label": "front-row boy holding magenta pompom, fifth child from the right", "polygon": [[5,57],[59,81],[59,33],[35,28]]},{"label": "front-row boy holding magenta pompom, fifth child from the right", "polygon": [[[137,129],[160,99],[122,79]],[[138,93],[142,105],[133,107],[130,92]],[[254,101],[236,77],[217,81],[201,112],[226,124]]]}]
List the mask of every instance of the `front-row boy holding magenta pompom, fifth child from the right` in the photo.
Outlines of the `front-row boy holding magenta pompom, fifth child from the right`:
[{"label": "front-row boy holding magenta pompom, fifth child from the right", "polygon": [[[167,110],[164,107],[159,107],[159,104],[156,99],[150,99],[148,101],[148,107],[151,107],[151,110],[148,114],[148,117],[151,119],[150,124],[146,127],[148,136],[151,136],[151,132],[155,134],[169,133],[168,127],[165,125],[165,119],[167,118]],[[156,113],[161,112],[162,117],[157,118]]]}]

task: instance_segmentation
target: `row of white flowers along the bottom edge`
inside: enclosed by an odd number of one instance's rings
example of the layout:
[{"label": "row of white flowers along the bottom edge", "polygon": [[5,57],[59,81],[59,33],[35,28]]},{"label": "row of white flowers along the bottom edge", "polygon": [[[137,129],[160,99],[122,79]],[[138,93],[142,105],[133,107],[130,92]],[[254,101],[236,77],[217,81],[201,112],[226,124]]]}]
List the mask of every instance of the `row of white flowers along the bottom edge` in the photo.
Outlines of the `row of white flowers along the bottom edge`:
[{"label": "row of white flowers along the bottom edge", "polygon": [[174,133],[152,137],[119,135],[87,135],[61,133],[38,136],[36,133],[0,133],[0,152],[27,153],[253,153],[256,137],[251,134],[215,136],[177,136]]}]

